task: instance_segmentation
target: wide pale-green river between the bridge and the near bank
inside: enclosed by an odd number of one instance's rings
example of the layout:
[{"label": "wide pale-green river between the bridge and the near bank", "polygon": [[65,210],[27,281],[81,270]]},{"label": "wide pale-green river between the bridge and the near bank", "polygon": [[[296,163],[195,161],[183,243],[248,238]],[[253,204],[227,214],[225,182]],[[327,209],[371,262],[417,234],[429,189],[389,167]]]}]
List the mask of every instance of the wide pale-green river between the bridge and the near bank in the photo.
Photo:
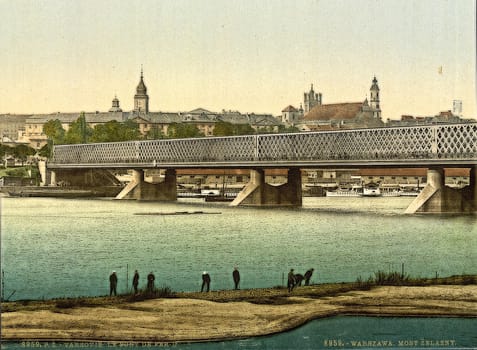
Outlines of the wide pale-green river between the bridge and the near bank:
[{"label": "wide pale-green river between the bridge and the near bank", "polygon": [[[140,287],[152,271],[157,287],[174,291],[200,290],[205,270],[211,289],[232,288],[234,266],[241,288],[282,285],[290,268],[313,267],[312,283],[403,266],[412,277],[477,273],[477,217],[404,215],[412,199],[307,197],[302,208],[271,209],[4,197],[3,293],[9,300],[106,295],[112,270],[126,292],[135,269]],[[171,213],[184,215],[160,215]]]}]

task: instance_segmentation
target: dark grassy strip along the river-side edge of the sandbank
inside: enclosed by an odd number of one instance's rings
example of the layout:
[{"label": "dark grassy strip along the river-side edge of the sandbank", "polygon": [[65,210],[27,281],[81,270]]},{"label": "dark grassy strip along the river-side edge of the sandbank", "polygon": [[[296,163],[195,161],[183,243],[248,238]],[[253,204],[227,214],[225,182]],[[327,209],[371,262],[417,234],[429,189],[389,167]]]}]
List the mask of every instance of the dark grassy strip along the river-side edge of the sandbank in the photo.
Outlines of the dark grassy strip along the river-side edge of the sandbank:
[{"label": "dark grassy strip along the river-side edge of the sandbank", "polygon": [[36,311],[69,309],[77,307],[104,307],[118,304],[134,303],[138,301],[175,298],[197,299],[220,303],[249,302],[263,305],[285,305],[300,302],[297,298],[324,298],[333,297],[347,292],[371,290],[378,286],[433,286],[433,285],[471,285],[477,284],[477,275],[458,275],[441,278],[411,278],[399,273],[385,273],[378,271],[374,276],[363,280],[358,278],[355,282],[324,283],[310,286],[298,286],[291,293],[286,287],[254,288],[243,290],[218,290],[208,293],[202,292],[174,292],[169,287],[156,289],[153,294],[140,292],[138,295],[122,294],[114,297],[75,297],[55,298],[50,300],[19,300],[2,302],[2,312]]}]

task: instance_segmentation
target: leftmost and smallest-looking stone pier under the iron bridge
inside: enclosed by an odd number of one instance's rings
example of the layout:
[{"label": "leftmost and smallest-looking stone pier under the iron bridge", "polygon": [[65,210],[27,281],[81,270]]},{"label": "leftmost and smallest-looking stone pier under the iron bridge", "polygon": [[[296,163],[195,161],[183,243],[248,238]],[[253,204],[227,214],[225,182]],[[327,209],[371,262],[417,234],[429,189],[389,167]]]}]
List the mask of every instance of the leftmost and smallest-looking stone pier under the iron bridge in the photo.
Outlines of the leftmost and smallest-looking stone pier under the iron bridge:
[{"label": "leftmost and smallest-looking stone pier under the iron bridge", "polygon": [[144,181],[144,170],[133,170],[133,179],[116,196],[116,199],[138,199],[150,201],[177,200],[177,181],[175,169],[167,169],[163,182]]}]

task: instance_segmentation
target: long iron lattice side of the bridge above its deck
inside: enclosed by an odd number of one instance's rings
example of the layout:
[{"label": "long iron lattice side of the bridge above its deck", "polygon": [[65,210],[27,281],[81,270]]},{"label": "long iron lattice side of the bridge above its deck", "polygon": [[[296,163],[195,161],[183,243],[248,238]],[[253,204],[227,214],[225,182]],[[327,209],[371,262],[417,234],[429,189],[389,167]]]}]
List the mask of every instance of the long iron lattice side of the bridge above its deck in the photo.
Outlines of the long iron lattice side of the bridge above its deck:
[{"label": "long iron lattice side of the bridge above its deck", "polygon": [[475,159],[477,123],[58,145],[51,163]]}]

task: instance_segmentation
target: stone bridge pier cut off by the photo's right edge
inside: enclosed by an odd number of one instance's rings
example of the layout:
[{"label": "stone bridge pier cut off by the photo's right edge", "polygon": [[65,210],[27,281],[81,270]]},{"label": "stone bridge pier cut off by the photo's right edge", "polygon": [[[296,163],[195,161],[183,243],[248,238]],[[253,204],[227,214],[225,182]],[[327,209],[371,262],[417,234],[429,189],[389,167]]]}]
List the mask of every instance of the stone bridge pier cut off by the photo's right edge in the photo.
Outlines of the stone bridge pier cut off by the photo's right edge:
[{"label": "stone bridge pier cut off by the photo's right edge", "polygon": [[477,167],[470,168],[469,186],[455,189],[445,186],[443,167],[427,170],[427,186],[406,209],[414,213],[474,213],[477,211]]}]

